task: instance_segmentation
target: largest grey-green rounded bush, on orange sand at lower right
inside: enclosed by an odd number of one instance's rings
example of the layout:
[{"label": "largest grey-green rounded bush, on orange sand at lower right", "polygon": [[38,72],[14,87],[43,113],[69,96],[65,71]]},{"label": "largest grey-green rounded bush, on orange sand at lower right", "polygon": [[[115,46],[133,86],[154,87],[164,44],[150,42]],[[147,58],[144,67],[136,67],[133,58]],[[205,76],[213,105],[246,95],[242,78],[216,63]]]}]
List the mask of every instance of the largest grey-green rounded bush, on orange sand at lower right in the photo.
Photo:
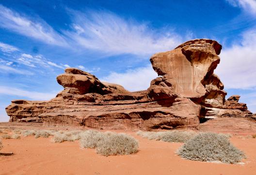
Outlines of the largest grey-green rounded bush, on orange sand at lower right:
[{"label": "largest grey-green rounded bush, on orange sand at lower right", "polygon": [[245,158],[244,153],[229,142],[227,135],[211,132],[197,134],[181,146],[177,154],[188,160],[224,163],[237,163]]}]

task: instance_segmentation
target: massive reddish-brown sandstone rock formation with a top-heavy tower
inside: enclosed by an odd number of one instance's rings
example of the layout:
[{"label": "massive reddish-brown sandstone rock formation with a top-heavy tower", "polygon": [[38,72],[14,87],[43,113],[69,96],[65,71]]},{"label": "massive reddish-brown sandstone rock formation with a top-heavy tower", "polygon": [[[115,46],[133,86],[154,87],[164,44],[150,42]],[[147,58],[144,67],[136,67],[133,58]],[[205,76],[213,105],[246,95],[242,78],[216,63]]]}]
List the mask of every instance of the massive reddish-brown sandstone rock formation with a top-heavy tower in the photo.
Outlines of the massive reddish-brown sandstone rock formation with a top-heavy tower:
[{"label": "massive reddish-brown sandstone rock formation with a top-heavy tower", "polygon": [[204,118],[255,120],[246,104],[238,102],[240,96],[225,100],[224,85],[213,73],[221,49],[216,41],[196,39],[153,55],[150,61],[160,77],[137,92],[67,68],[57,77],[64,90],[56,98],[12,101],[6,112],[10,121],[103,129],[197,129]]}]

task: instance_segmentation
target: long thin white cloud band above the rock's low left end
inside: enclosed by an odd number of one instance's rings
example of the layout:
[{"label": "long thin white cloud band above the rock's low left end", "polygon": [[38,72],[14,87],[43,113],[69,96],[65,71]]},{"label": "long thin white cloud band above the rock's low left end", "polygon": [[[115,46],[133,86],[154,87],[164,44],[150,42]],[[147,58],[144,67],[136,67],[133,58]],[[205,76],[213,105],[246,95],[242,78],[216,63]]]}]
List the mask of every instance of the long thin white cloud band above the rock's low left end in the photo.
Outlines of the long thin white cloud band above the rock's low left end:
[{"label": "long thin white cloud band above the rock's low left end", "polygon": [[14,87],[0,86],[0,94],[14,95],[17,97],[26,97],[31,100],[50,100],[54,98],[57,93],[42,93],[42,92],[22,90]]}]

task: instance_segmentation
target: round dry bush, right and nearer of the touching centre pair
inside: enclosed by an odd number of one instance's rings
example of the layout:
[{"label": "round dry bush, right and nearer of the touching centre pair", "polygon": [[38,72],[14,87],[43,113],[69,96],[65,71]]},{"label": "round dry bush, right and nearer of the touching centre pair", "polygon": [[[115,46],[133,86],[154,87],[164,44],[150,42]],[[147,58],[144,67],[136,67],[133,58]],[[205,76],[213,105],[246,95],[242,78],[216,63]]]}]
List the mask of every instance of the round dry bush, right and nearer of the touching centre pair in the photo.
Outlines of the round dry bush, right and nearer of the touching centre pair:
[{"label": "round dry bush, right and nearer of the touching centre pair", "polygon": [[124,133],[104,134],[96,147],[96,152],[104,156],[127,155],[138,151],[138,141]]}]

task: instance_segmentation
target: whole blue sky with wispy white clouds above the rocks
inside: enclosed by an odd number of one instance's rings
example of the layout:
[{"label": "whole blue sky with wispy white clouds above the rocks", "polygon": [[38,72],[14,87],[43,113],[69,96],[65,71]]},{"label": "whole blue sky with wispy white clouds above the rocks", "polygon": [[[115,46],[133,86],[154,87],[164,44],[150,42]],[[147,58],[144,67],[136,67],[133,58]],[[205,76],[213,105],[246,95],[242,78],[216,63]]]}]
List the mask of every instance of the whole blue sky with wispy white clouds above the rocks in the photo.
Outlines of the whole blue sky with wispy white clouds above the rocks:
[{"label": "whole blue sky with wispy white clouds above the rocks", "polygon": [[11,100],[55,97],[66,67],[146,89],[150,56],[194,38],[223,45],[215,73],[256,113],[256,0],[0,0],[0,121]]}]

